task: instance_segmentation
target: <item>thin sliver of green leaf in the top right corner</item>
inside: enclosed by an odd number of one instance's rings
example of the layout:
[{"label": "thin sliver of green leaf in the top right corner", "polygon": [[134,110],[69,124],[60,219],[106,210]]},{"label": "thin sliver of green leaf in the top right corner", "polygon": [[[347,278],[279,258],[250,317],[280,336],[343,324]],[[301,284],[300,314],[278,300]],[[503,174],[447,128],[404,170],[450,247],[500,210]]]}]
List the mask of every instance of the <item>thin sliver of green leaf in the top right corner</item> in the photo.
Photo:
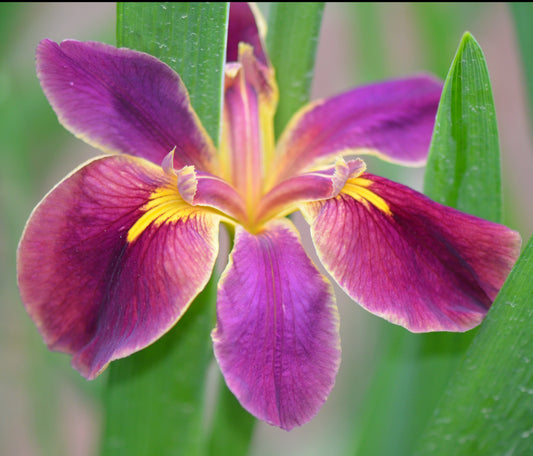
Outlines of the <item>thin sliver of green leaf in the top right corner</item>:
[{"label": "thin sliver of green leaf in the top right corner", "polygon": [[511,2],[516,36],[522,53],[525,83],[529,93],[529,112],[533,115],[533,4],[528,2]]}]

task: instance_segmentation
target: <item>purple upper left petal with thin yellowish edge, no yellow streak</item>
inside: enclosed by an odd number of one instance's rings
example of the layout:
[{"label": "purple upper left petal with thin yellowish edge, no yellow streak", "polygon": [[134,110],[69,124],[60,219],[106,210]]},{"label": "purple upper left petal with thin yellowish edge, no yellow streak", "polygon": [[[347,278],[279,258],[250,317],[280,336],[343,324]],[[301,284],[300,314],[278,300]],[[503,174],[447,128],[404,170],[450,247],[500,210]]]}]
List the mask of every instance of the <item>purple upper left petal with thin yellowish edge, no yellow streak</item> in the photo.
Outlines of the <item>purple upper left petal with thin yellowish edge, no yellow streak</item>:
[{"label": "purple upper left petal with thin yellowish edge, no yellow streak", "polygon": [[148,54],[96,42],[43,40],[37,74],[59,121],[89,144],[210,171],[214,145],[180,77]]}]

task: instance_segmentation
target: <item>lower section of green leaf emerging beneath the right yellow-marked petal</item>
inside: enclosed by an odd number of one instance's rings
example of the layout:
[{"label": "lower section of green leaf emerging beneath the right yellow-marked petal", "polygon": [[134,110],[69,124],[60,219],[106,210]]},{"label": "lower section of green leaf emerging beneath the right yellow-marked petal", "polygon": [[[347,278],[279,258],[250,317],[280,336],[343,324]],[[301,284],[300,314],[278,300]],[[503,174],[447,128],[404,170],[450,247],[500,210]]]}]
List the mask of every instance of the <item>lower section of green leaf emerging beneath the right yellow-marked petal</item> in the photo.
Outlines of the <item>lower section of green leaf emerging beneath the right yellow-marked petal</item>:
[{"label": "lower section of green leaf emerging beneath the right yellow-marked petal", "polygon": [[472,333],[412,334],[380,322],[379,362],[349,455],[412,456]]}]

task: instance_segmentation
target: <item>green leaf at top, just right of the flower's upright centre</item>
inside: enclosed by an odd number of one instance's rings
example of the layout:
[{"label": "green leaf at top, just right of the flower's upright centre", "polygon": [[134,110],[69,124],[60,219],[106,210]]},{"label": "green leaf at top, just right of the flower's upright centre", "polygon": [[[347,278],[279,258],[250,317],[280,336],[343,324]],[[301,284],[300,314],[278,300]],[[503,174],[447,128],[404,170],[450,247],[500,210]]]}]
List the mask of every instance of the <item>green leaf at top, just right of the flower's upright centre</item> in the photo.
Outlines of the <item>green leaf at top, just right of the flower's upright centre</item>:
[{"label": "green leaf at top, just right of the flower's upright centre", "polygon": [[276,137],[309,100],[323,10],[323,2],[276,2],[270,7],[266,44],[279,87]]}]

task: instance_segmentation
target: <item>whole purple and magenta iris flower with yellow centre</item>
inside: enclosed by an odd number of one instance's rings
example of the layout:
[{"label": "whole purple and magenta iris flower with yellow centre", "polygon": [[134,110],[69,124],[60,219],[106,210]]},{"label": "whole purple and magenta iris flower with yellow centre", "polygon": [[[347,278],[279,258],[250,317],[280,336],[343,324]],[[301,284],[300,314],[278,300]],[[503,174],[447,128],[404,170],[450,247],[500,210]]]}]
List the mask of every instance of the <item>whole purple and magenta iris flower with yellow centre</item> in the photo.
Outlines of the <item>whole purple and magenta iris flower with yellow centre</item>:
[{"label": "whole purple and magenta iris flower with yellow centre", "polygon": [[220,223],[234,227],[215,358],[245,409],[288,430],[325,402],[341,349],[331,283],[287,215],[303,214],[350,297],[412,332],[478,325],[520,237],[370,174],[356,157],[424,163],[441,93],[432,77],[315,101],[275,143],[278,90],[259,20],[232,5],[218,150],[178,74],[156,58],[97,42],[38,45],[59,121],[105,154],[34,209],[18,280],[48,347],[93,379],[178,322],[211,276]]}]

